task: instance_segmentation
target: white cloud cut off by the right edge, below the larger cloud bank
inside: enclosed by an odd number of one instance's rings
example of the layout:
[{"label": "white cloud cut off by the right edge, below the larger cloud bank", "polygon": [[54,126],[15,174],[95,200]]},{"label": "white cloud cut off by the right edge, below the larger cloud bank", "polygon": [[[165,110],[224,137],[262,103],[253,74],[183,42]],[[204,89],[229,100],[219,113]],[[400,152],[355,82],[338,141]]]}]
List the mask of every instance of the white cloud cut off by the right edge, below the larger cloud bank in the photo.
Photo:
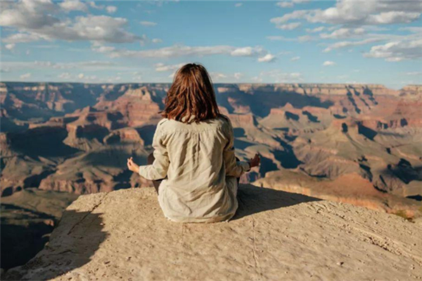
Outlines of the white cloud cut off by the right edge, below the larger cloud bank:
[{"label": "white cloud cut off by the right edge, below the larger cloud bank", "polygon": [[422,58],[422,39],[391,41],[384,45],[372,46],[366,58],[384,58],[390,62]]}]

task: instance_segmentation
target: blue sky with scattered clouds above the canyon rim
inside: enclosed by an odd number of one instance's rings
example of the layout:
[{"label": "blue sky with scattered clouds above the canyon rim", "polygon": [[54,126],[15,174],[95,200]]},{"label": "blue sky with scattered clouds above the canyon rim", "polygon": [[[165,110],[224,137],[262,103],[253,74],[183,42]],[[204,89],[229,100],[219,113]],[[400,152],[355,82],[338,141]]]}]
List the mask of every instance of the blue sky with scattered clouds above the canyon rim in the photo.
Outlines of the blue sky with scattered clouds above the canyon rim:
[{"label": "blue sky with scattered clouds above the canyon rim", "polygon": [[1,2],[1,81],[422,84],[421,1]]}]

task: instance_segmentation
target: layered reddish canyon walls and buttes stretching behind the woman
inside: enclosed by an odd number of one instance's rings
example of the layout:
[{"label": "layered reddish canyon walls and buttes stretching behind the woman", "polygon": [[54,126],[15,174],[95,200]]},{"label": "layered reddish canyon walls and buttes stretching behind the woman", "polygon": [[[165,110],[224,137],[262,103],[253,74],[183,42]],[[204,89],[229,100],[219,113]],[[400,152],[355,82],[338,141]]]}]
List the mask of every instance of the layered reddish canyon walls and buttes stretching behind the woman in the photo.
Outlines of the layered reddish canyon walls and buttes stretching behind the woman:
[{"label": "layered reddish canyon walls and buttes stretching behind the woman", "polygon": [[[146,164],[169,86],[0,84],[2,194],[151,185],[127,171],[126,158]],[[386,206],[385,195],[403,209],[422,195],[421,86],[216,84],[215,93],[234,126],[237,156],[262,155],[243,183],[268,180],[288,190],[297,180],[354,204],[368,202],[359,192],[375,194],[373,209]],[[350,178],[359,192],[350,193]]]}]

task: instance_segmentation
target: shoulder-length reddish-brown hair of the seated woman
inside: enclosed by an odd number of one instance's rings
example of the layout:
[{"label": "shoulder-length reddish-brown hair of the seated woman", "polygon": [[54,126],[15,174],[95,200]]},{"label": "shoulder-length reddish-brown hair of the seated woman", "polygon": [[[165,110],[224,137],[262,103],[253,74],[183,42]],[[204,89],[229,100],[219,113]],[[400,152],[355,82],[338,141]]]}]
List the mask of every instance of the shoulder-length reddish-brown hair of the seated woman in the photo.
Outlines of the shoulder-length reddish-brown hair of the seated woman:
[{"label": "shoulder-length reddish-brown hair of the seated woman", "polygon": [[177,70],[161,113],[188,124],[219,116],[214,87],[203,65],[188,63]]}]

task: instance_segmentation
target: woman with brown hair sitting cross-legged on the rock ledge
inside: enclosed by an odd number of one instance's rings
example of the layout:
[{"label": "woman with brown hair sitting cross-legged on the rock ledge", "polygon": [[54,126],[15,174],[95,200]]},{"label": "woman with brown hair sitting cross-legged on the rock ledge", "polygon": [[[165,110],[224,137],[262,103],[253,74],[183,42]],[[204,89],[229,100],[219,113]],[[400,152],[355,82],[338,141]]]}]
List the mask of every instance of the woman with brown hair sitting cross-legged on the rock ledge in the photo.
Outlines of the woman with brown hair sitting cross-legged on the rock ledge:
[{"label": "woman with brown hair sitting cross-legged on the rock ledge", "polygon": [[174,76],[153,138],[153,155],[131,171],[153,181],[167,218],[177,222],[227,221],[236,213],[238,178],[260,164],[236,161],[234,133],[221,115],[211,79],[202,65],[189,63]]}]

